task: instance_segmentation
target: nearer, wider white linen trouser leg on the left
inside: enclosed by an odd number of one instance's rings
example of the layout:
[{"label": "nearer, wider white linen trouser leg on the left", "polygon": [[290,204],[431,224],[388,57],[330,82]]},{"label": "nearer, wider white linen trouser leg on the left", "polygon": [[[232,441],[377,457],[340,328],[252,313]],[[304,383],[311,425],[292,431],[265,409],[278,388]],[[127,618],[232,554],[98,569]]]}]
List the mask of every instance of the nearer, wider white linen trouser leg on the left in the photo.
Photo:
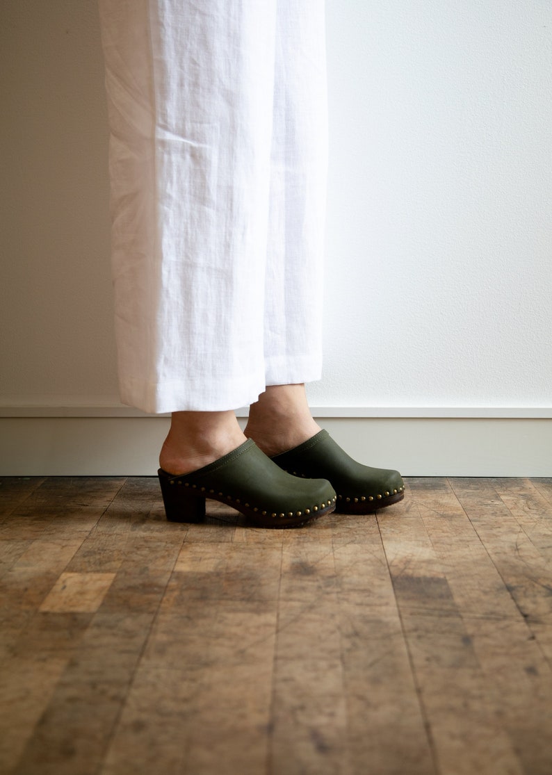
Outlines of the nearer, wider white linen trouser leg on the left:
[{"label": "nearer, wider white linen trouser leg on the left", "polygon": [[276,0],[100,0],[122,401],[264,390]]}]

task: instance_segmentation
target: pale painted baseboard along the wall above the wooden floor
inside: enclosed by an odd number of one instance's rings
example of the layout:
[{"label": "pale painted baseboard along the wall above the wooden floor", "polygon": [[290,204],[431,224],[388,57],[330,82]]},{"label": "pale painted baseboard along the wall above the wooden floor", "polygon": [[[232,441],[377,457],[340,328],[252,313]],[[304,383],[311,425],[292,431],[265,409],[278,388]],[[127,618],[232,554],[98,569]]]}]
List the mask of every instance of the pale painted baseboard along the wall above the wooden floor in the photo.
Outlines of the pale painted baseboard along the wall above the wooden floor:
[{"label": "pale painted baseboard along the wall above the wooden floor", "polygon": [[[238,412],[245,423],[246,412]],[[550,408],[319,408],[350,455],[408,476],[552,477]],[[2,476],[154,476],[169,418],[126,407],[0,409]]]}]

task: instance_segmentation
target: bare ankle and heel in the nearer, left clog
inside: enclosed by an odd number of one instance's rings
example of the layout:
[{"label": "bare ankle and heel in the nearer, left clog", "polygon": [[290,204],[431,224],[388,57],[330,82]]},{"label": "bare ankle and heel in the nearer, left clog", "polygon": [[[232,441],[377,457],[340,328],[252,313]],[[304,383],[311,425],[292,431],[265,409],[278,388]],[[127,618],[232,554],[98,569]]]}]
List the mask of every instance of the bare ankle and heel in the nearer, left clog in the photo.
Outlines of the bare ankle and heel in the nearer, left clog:
[{"label": "bare ankle and heel in the nearer, left clog", "polygon": [[189,474],[246,440],[233,412],[173,412],[159,464],[167,474]]}]

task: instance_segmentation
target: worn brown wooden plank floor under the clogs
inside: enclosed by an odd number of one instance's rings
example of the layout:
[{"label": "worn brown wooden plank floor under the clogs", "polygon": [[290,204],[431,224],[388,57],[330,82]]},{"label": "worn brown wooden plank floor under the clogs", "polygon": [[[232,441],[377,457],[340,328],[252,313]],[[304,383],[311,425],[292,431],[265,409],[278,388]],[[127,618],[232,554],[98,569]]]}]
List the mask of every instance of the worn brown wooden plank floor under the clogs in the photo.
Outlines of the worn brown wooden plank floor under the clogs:
[{"label": "worn brown wooden plank floor under the clogs", "polygon": [[2,775],[552,773],[552,480],[284,531],[0,482]]}]

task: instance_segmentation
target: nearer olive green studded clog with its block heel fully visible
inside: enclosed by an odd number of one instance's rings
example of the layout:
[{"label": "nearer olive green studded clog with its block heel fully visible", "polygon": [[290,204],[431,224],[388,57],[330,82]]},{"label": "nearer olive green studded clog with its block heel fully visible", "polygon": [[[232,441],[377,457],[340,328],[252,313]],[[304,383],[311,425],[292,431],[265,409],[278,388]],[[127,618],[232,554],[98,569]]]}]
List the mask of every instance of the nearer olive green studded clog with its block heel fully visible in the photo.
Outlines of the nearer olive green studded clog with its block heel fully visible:
[{"label": "nearer olive green studded clog with its block heel fully visible", "polygon": [[202,522],[205,498],[236,508],[263,528],[298,527],[336,508],[329,482],[286,474],[252,439],[191,474],[157,473],[170,522]]}]

